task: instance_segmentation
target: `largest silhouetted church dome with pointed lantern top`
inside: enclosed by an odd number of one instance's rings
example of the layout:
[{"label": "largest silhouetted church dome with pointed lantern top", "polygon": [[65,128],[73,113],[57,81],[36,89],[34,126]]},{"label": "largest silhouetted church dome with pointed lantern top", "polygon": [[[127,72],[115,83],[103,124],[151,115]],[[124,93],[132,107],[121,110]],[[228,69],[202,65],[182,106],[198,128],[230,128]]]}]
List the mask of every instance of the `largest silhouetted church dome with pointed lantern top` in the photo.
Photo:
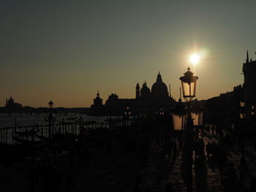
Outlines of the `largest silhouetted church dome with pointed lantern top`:
[{"label": "largest silhouetted church dome with pointed lantern top", "polygon": [[165,82],[162,82],[160,72],[157,74],[157,82],[152,85],[151,94],[154,99],[165,99],[168,97],[167,86]]}]

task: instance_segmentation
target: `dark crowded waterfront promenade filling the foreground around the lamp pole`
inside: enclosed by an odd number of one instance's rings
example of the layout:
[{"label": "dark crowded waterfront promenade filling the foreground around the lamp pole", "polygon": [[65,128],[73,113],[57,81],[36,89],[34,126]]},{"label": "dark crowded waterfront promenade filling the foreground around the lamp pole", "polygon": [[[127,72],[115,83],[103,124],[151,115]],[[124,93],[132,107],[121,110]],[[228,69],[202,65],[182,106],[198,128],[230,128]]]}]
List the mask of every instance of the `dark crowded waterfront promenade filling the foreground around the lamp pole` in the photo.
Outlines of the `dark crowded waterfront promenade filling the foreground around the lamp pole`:
[{"label": "dark crowded waterfront promenade filling the foreground around the lamp pole", "polygon": [[[181,135],[156,127],[78,139],[61,151],[57,143],[45,145],[20,162],[5,158],[1,191],[186,191]],[[202,129],[195,137],[193,191],[253,191],[256,153],[249,141],[245,146],[241,162],[236,142]]]}]

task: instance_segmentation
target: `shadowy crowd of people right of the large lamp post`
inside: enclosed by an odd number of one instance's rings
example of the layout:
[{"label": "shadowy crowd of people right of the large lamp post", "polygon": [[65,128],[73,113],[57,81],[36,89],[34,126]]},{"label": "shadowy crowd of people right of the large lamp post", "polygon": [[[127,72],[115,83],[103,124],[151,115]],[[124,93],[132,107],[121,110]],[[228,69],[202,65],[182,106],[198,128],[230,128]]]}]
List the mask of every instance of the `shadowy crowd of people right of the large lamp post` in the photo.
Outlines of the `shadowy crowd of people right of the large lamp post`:
[{"label": "shadowy crowd of people right of the large lamp post", "polygon": [[[256,183],[255,177],[253,177],[246,164],[246,158],[244,155],[244,145],[241,145],[244,137],[241,137],[239,131],[236,128],[223,125],[206,125],[200,131],[201,137],[207,137],[208,143],[204,147],[200,147],[200,142],[195,142],[195,154],[196,148],[205,150],[206,159],[210,169],[219,169],[219,173],[222,180],[222,185],[225,191],[255,191]],[[240,153],[234,162],[230,160],[230,151]],[[197,156],[197,155],[196,155]]]}]

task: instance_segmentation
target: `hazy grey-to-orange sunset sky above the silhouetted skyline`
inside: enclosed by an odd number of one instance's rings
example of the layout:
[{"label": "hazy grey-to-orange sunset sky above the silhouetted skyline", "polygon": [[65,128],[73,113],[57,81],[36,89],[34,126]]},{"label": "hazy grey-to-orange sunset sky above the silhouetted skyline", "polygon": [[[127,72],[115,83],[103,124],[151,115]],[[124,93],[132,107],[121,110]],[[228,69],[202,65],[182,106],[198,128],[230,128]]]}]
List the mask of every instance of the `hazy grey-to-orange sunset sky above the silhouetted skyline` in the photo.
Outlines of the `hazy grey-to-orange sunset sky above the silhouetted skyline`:
[{"label": "hazy grey-to-orange sunset sky above the silhouetted skyline", "polygon": [[[256,55],[256,1],[0,1],[0,106],[89,107],[99,91],[135,98],[162,74],[178,100],[190,66],[197,99],[242,84]],[[199,63],[189,55],[200,54]]]}]

